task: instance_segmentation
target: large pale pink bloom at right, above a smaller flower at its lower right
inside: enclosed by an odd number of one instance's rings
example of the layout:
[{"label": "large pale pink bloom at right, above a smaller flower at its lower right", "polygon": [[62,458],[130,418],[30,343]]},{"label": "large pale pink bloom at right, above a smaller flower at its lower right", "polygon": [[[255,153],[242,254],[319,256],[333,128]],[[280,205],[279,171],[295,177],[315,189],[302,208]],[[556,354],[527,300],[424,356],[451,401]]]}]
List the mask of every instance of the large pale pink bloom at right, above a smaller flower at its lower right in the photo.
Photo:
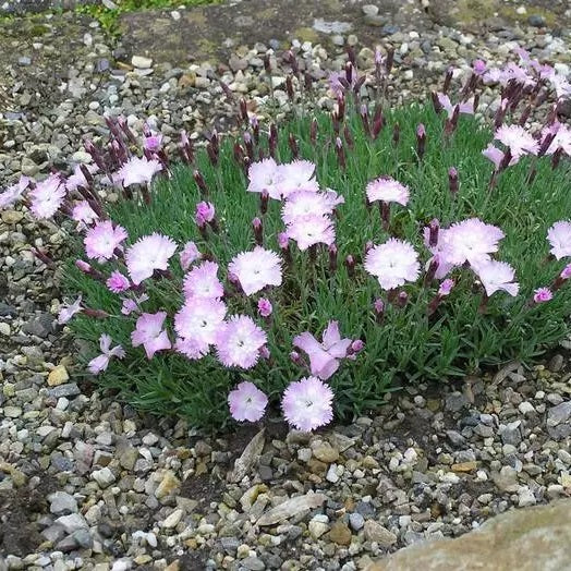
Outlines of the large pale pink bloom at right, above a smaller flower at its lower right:
[{"label": "large pale pink bloom at right, above a smaller flower at its lower right", "polygon": [[506,235],[497,226],[487,224],[479,218],[455,222],[440,234],[442,260],[454,266],[488,259],[489,254],[498,251],[499,241]]}]

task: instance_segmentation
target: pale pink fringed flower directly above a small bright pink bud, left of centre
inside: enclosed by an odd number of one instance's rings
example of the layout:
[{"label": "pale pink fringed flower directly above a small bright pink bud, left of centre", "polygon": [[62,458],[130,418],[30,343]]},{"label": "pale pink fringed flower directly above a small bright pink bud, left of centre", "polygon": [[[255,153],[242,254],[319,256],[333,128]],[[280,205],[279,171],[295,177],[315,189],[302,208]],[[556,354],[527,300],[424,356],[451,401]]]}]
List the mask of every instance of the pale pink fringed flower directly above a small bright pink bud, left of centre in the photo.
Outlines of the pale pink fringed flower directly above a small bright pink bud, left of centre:
[{"label": "pale pink fringed flower directly above a small bright pink bud, left of centre", "polygon": [[262,246],[234,256],[228,271],[238,278],[246,295],[252,295],[266,286],[281,284],[281,258]]}]

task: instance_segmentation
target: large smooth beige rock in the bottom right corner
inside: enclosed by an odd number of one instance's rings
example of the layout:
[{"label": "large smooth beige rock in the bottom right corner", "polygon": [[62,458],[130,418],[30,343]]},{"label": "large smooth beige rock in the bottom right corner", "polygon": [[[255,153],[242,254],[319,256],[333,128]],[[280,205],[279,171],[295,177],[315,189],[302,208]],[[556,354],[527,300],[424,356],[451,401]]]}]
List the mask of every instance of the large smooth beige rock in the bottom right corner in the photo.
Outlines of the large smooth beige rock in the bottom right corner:
[{"label": "large smooth beige rock in the bottom right corner", "polygon": [[457,539],[412,545],[367,571],[562,571],[571,569],[571,499],[511,510]]}]

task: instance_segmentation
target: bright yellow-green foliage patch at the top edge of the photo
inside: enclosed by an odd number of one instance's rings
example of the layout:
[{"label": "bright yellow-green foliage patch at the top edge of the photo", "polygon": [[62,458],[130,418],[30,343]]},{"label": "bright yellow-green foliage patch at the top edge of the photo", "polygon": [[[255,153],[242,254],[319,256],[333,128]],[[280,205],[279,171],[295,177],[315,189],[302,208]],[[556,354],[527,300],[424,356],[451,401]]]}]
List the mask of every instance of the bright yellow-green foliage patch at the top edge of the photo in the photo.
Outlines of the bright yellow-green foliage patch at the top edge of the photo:
[{"label": "bright yellow-green foliage patch at the top edge of the photo", "polygon": [[82,4],[76,8],[80,14],[87,14],[97,20],[101,27],[109,34],[117,36],[120,34],[119,17],[121,14],[137,10],[161,10],[177,9],[180,7],[197,7],[215,4],[220,0],[118,0],[117,8],[107,8],[101,3]]}]

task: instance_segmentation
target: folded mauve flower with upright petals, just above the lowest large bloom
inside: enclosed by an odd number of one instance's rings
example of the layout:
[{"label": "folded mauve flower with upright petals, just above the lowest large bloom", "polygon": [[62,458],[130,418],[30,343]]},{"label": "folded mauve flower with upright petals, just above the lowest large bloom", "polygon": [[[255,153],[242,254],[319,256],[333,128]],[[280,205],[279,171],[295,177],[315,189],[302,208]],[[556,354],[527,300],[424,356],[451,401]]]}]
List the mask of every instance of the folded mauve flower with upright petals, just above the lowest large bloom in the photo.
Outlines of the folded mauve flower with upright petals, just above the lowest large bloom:
[{"label": "folded mauve flower with upright petals, just above the lowest large bloom", "polygon": [[339,360],[347,357],[351,342],[351,339],[341,339],[338,321],[329,321],[321,343],[308,331],[293,338],[293,347],[307,353],[312,375],[324,380],[339,368]]}]

